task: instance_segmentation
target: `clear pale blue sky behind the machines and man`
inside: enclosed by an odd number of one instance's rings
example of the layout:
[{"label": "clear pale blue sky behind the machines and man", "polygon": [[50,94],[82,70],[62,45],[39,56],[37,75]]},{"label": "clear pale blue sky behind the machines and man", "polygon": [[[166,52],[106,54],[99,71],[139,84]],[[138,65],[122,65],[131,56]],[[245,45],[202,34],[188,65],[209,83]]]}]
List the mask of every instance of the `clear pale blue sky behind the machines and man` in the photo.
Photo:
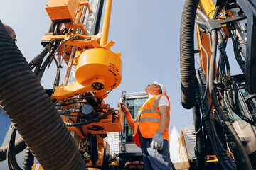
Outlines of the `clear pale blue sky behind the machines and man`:
[{"label": "clear pale blue sky behind the machines and man", "polygon": [[[48,0],[0,0],[0,20],[16,32],[17,46],[30,62],[42,50],[48,32]],[[179,32],[184,0],[113,0],[108,40],[121,52],[122,82],[105,98],[117,108],[122,91],[144,91],[152,81],[164,84],[171,103],[170,131],[193,125],[192,110],[181,106]],[[52,89],[55,65],[46,70],[41,84]]]}]

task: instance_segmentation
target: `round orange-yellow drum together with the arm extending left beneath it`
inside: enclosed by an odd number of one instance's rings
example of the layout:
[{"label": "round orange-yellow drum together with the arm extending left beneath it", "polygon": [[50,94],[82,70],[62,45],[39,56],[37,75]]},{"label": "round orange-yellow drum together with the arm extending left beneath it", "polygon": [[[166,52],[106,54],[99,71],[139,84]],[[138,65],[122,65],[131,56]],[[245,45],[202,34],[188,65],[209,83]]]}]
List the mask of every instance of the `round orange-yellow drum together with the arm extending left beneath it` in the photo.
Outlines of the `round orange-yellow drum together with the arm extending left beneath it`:
[{"label": "round orange-yellow drum together with the arm extending left beneath it", "polygon": [[[95,95],[101,95],[105,94],[105,91],[115,89],[122,81],[120,53],[104,48],[85,50],[78,59],[75,77],[77,82],[73,84],[56,86],[53,97],[61,101],[86,91],[94,91]],[[95,82],[103,82],[104,89],[101,91],[92,89],[92,84]]]}]

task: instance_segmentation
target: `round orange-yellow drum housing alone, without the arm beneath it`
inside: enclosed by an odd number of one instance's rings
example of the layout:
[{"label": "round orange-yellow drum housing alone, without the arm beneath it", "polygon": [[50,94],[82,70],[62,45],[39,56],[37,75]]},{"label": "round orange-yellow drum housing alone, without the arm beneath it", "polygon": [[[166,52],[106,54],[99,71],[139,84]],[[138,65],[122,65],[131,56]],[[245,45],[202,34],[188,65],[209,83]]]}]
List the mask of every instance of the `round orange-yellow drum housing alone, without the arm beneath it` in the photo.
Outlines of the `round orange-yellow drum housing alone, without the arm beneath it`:
[{"label": "round orange-yellow drum housing alone, without the arm beneath it", "polygon": [[122,80],[122,61],[110,50],[85,50],[79,57],[75,78],[82,85],[91,79],[93,82],[103,82],[104,90],[109,91],[119,86]]}]

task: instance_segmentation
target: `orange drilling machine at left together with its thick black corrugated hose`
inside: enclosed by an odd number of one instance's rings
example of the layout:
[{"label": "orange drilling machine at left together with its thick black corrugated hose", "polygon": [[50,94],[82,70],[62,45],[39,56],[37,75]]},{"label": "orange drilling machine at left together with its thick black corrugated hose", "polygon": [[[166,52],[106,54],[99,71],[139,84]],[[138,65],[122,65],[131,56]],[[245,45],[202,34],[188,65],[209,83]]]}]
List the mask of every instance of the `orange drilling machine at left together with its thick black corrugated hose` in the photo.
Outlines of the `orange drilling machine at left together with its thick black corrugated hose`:
[{"label": "orange drilling machine at left together with its thick black corrugated hose", "polygon": [[[119,52],[110,50],[114,42],[107,40],[112,0],[106,1],[99,33],[103,6],[102,0],[49,0],[46,11],[52,23],[41,40],[43,51],[29,64],[23,64],[14,39],[0,23],[0,64],[1,69],[8,67],[8,72],[1,72],[7,84],[0,87],[1,106],[15,126],[10,169],[18,169],[13,152],[16,130],[38,160],[33,169],[108,166],[105,137],[124,130],[124,115],[121,107],[116,110],[104,101],[122,81],[122,60]],[[38,79],[52,62],[57,66],[53,89],[44,90]],[[16,78],[9,81],[12,76]]]}]

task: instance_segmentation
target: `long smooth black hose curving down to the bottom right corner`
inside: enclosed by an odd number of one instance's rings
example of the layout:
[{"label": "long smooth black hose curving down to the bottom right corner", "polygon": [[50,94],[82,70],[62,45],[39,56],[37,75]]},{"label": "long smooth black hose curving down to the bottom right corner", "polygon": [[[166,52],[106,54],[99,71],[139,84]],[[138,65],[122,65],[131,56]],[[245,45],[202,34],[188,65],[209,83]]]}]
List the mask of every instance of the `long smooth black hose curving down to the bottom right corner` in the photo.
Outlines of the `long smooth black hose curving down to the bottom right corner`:
[{"label": "long smooth black hose curving down to the bottom right corner", "polygon": [[215,106],[215,109],[220,115],[220,118],[223,120],[225,123],[225,126],[230,130],[230,133],[233,135],[235,138],[235,144],[237,145],[242,158],[244,159],[245,163],[245,169],[252,169],[252,165],[250,163],[250,159],[247,155],[247,152],[245,150],[245,147],[243,147],[242,142],[240,141],[240,138],[238,137],[237,132],[235,132],[235,129],[233,125],[230,123],[228,118],[225,116],[223,113],[222,109],[220,108],[220,105],[218,103],[217,96],[215,94],[215,88],[214,88],[214,79],[215,79],[215,57],[216,57],[216,50],[217,50],[217,33],[216,30],[212,30],[212,39],[213,39],[213,45],[212,45],[212,56],[210,58],[210,70],[209,70],[209,91],[210,91],[210,97],[212,99],[213,105]]}]

